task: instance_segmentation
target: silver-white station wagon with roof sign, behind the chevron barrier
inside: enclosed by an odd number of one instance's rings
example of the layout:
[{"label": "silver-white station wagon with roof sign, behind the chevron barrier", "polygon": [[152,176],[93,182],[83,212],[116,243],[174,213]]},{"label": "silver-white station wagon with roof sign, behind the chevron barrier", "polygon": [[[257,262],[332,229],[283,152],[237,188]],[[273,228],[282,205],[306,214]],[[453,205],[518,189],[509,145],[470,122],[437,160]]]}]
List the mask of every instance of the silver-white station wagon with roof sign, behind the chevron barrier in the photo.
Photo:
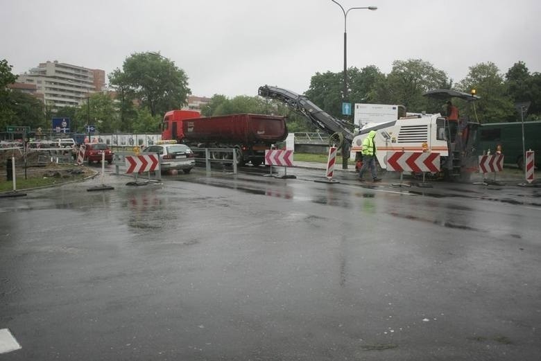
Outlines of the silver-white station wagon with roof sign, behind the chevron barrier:
[{"label": "silver-white station wagon with roof sign, behind the chevron barrier", "polygon": [[175,169],[188,174],[196,166],[194,152],[185,144],[155,144],[144,148],[142,152],[144,155],[156,153],[160,155],[162,173]]}]

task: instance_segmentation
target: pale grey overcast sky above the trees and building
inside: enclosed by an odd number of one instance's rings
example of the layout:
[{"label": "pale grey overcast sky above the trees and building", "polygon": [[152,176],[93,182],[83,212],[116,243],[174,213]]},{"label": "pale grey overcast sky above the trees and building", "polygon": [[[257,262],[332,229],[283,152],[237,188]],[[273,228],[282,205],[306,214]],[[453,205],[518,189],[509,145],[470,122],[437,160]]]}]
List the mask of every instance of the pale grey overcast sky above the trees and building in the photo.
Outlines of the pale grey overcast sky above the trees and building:
[{"label": "pale grey overcast sky above the trees and building", "polygon": [[[347,66],[422,59],[455,82],[494,62],[541,71],[540,0],[338,0]],[[0,0],[0,59],[15,74],[46,60],[110,73],[154,51],[189,77],[193,95],[303,93],[317,72],[343,70],[342,10],[331,0]]]}]

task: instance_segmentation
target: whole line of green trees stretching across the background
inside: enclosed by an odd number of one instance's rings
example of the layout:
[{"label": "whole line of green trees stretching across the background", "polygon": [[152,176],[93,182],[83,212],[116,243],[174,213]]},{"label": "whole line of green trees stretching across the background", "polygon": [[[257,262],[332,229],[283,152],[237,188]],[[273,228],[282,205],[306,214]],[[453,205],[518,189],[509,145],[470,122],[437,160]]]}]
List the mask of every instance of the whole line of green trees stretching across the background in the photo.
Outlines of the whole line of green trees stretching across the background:
[{"label": "whole line of green trees stretching across the background", "polygon": [[[108,74],[111,92],[94,93],[81,107],[51,109],[37,98],[7,86],[16,81],[7,60],[0,61],[0,132],[7,125],[26,125],[49,129],[51,118],[71,118],[71,127],[84,132],[85,125],[96,125],[101,133],[158,132],[165,112],[180,109],[191,95],[188,76],[160,53],[134,53],[123,66]],[[515,105],[529,102],[526,120],[541,119],[541,73],[529,71],[519,61],[506,73],[493,62],[476,64],[467,76],[454,82],[445,71],[420,59],[396,60],[390,73],[376,66],[347,71],[347,100],[351,103],[404,105],[409,112],[442,112],[441,102],[424,97],[433,89],[454,89],[470,93],[476,89],[480,123],[519,121]],[[298,89],[291,89],[298,92]],[[343,118],[343,72],[316,73],[304,95],[325,112]],[[461,116],[472,116],[465,102],[457,101]],[[281,103],[259,96],[228,98],[214,94],[201,109],[202,116],[255,113],[286,116],[290,132],[314,131],[303,116]]]}]

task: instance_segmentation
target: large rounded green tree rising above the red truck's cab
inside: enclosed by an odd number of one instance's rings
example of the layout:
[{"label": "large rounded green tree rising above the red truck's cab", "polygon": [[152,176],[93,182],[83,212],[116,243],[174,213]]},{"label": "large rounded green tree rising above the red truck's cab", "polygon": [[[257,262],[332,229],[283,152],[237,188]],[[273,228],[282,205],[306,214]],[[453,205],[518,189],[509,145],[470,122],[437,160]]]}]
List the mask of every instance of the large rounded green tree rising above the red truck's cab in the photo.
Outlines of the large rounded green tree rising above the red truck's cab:
[{"label": "large rounded green tree rising above the red truck's cab", "polygon": [[110,76],[114,87],[127,87],[152,116],[180,109],[191,94],[186,73],[159,53],[134,53],[124,61],[122,71]]}]

